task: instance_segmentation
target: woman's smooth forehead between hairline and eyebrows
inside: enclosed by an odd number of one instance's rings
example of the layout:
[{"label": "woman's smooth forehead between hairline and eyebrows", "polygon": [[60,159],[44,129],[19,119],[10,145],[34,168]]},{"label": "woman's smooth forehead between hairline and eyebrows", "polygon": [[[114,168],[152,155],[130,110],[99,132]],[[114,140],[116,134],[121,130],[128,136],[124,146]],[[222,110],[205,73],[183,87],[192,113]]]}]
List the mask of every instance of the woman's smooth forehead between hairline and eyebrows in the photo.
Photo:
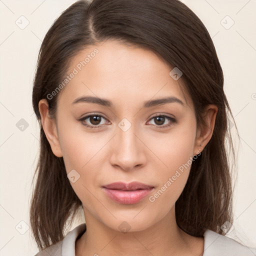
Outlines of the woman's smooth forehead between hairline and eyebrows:
[{"label": "woman's smooth forehead between hairline and eyebrows", "polygon": [[68,101],[91,95],[130,104],[134,99],[144,102],[175,96],[190,105],[181,79],[174,80],[169,74],[171,70],[172,67],[153,51],[106,40],[88,45],[73,57],[63,97]]}]

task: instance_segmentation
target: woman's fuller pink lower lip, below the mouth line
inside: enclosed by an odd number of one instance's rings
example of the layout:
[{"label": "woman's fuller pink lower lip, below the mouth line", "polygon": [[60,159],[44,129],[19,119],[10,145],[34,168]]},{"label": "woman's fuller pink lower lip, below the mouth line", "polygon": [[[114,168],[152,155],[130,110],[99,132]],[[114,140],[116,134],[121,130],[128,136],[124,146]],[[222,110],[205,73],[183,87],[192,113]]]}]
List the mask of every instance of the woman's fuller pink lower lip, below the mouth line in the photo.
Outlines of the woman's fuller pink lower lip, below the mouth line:
[{"label": "woman's fuller pink lower lip, below the mouth line", "polygon": [[137,203],[147,196],[153,188],[137,189],[137,190],[118,190],[104,188],[106,195],[112,200],[122,204]]}]

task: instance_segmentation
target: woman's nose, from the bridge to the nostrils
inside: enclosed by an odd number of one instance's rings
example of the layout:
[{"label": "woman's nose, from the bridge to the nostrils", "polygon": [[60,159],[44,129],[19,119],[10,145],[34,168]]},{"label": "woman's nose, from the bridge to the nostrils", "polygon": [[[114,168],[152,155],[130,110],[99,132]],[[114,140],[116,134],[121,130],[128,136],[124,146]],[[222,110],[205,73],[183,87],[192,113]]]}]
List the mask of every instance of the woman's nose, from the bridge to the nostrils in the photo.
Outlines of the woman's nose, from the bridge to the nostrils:
[{"label": "woman's nose, from the bridge to the nostrils", "polygon": [[120,127],[117,126],[111,143],[111,165],[124,171],[144,166],[146,146],[138,129],[135,129],[135,125],[131,125],[126,131]]}]

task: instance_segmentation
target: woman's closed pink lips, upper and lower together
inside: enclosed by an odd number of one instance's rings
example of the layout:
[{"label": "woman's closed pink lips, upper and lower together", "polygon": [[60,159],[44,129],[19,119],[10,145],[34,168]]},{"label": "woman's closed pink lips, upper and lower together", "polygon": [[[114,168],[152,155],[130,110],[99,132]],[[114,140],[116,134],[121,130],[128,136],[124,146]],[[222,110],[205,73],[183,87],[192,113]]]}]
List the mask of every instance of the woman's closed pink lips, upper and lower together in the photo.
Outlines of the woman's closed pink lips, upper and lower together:
[{"label": "woman's closed pink lips, upper and lower together", "polygon": [[147,196],[154,186],[140,182],[114,182],[102,186],[105,194],[112,200],[122,204],[133,204]]}]

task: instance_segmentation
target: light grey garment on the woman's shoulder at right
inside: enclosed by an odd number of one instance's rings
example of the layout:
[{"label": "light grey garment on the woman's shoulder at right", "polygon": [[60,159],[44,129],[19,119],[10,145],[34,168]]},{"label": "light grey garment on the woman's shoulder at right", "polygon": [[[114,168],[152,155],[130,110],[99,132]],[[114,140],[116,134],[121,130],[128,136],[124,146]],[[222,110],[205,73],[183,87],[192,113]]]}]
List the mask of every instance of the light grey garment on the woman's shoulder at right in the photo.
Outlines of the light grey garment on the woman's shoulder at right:
[{"label": "light grey garment on the woman's shoulder at right", "polygon": [[256,248],[247,247],[241,243],[207,229],[204,234],[203,256],[255,256]]}]

